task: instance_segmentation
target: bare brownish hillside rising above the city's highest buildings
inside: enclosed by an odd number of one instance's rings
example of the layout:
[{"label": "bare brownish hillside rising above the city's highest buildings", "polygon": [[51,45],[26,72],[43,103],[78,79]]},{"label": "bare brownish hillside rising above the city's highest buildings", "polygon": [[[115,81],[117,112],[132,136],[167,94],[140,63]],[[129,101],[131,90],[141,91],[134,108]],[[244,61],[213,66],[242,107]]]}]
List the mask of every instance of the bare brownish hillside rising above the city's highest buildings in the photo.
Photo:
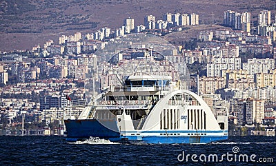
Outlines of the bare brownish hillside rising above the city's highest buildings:
[{"label": "bare brownish hillside rising above the city's highest buildings", "polygon": [[201,24],[213,24],[221,23],[225,10],[235,10],[251,12],[256,21],[260,10],[275,14],[275,3],[275,0],[2,0],[0,51],[31,49],[48,39],[57,43],[61,34],[94,32],[104,26],[119,28],[126,17],[134,18],[135,25],[139,25],[146,14],[161,19],[166,12],[194,12],[199,14]]}]

